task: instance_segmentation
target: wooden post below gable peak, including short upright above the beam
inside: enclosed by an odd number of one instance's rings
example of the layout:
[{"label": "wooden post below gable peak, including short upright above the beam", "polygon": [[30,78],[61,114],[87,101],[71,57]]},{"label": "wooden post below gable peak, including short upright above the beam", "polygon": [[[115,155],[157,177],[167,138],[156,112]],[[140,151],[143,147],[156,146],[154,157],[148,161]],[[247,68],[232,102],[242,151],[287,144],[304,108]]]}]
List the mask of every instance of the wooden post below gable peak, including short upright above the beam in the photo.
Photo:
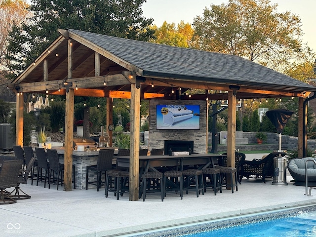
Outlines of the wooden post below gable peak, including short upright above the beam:
[{"label": "wooden post below gable peak, including short upright above the beam", "polygon": [[[73,76],[73,48],[68,40],[68,79]],[[74,99],[73,88],[66,91],[65,112],[65,155],[64,155],[64,191],[72,190],[73,180],[73,140],[74,140]]]}]

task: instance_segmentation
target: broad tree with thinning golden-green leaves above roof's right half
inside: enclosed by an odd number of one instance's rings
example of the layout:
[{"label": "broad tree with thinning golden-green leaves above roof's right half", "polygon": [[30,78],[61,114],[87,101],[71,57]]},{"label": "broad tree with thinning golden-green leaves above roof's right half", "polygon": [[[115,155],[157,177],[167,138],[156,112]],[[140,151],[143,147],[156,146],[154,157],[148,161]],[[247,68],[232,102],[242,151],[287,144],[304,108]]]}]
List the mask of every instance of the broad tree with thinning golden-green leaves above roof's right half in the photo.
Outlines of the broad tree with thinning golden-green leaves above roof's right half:
[{"label": "broad tree with thinning golden-green leaves above roof's right half", "polygon": [[302,48],[301,20],[270,0],[212,4],[193,23],[198,48],[234,54],[282,71]]}]

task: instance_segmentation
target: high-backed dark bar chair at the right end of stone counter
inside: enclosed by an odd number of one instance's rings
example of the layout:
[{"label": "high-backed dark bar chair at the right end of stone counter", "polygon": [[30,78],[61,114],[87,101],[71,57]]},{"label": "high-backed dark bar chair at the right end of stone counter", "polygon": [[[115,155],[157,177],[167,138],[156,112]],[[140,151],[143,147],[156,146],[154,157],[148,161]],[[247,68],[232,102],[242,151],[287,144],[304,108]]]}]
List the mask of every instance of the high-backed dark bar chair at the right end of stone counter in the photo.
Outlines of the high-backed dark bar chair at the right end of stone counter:
[{"label": "high-backed dark bar chair at the right end of stone counter", "polygon": [[[125,150],[125,149],[124,149]],[[97,160],[97,164],[88,165],[86,167],[86,176],[85,176],[85,189],[88,189],[88,184],[96,185],[97,191],[99,192],[99,188],[101,188],[101,184],[105,184],[105,181],[102,182],[102,173],[107,170],[112,169],[112,160],[114,155],[114,149],[106,149],[100,150],[99,156]],[[96,172],[97,180],[89,181],[89,170]]]}]

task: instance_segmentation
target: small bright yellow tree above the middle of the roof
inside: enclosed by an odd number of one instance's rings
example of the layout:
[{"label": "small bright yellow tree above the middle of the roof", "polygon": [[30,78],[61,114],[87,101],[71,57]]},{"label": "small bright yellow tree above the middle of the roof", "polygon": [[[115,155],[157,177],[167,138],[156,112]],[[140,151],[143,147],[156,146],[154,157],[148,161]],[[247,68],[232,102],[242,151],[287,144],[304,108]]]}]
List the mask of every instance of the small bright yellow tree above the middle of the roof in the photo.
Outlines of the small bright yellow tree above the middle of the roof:
[{"label": "small bright yellow tree above the middle of the roof", "polygon": [[153,42],[170,46],[188,48],[192,44],[194,30],[189,23],[181,21],[176,27],[175,23],[164,21],[161,27],[153,26],[155,40]]}]

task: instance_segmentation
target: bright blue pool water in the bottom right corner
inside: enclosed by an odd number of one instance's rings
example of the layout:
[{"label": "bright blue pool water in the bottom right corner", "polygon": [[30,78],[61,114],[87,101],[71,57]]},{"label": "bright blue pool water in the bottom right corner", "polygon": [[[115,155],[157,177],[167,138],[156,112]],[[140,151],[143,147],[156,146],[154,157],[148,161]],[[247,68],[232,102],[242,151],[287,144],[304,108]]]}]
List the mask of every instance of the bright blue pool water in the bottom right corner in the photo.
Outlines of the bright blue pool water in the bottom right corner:
[{"label": "bright blue pool water in the bottom right corner", "polygon": [[222,228],[184,237],[316,237],[316,212]]}]

